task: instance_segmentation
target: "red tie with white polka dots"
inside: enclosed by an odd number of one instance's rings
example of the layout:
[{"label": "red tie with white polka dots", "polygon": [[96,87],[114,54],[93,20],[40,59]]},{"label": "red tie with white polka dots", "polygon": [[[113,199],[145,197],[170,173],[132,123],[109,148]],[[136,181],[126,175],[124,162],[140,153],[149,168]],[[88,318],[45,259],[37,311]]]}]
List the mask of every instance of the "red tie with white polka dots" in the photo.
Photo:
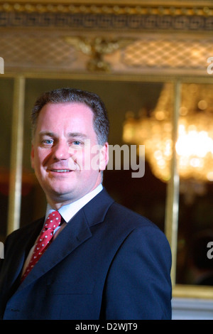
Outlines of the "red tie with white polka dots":
[{"label": "red tie with white polka dots", "polygon": [[31,260],[26,267],[26,271],[24,272],[23,276],[21,277],[21,281],[23,281],[26,276],[29,274],[31,269],[33,269],[33,266],[38,262],[42,254],[45,252],[45,250],[50,245],[51,239],[53,238],[53,231],[56,227],[60,225],[60,213],[58,211],[53,211],[48,215],[47,220],[45,221],[45,225],[43,227],[43,230],[40,232],[40,235],[38,237],[38,241],[35,244],[35,248],[33,250],[33,255],[31,257]]}]

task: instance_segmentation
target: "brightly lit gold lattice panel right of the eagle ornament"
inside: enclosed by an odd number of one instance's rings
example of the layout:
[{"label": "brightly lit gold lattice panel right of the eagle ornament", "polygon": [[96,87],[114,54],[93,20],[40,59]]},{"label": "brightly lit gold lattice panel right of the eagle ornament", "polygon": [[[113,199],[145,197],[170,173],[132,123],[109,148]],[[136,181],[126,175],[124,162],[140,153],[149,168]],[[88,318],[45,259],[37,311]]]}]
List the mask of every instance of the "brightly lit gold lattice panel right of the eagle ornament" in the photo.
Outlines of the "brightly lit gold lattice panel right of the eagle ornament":
[{"label": "brightly lit gold lattice panel right of the eagle ornament", "polygon": [[143,38],[127,46],[122,62],[140,68],[206,69],[213,56],[213,38]]}]

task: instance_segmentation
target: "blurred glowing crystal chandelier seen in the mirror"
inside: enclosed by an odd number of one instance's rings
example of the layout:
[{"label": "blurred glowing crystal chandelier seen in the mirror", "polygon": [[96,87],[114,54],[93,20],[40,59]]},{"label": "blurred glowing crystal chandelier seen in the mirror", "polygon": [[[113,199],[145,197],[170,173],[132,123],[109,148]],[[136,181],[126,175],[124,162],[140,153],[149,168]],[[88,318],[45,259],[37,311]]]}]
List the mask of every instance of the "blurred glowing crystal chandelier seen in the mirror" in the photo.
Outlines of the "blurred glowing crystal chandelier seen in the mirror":
[{"label": "blurred glowing crystal chandelier seen in the mirror", "polygon": [[[213,181],[213,85],[182,84],[175,151],[180,179]],[[170,180],[173,158],[173,85],[167,83],[150,115],[131,114],[124,123],[123,140],[145,145],[146,159],[155,177]]]}]

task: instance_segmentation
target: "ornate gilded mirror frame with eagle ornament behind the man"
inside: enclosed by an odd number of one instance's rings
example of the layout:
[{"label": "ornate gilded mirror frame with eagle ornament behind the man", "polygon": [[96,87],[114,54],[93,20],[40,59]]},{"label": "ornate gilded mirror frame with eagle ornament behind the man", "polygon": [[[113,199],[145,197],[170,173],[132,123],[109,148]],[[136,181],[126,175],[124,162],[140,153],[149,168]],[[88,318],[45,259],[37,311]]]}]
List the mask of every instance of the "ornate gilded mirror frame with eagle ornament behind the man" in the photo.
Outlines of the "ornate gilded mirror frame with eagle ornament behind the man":
[{"label": "ornate gilded mirror frame with eagle ornament behind the man", "polygon": [[[182,82],[212,82],[212,1],[0,1],[0,30],[4,77],[14,78],[9,232],[18,227],[20,217],[27,78],[172,82],[173,142]],[[213,288],[175,284],[179,194],[175,155],[171,166],[165,232],[173,252],[173,296],[213,298]]]}]

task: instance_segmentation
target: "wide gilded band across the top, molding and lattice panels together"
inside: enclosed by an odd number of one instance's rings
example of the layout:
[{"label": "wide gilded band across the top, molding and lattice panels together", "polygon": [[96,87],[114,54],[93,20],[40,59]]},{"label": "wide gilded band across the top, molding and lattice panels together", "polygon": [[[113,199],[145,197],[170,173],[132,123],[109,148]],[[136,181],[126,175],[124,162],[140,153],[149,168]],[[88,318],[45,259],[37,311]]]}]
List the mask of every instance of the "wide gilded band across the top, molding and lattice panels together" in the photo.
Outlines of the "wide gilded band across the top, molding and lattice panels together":
[{"label": "wide gilded band across the top, molding and lattice panels together", "polygon": [[[7,71],[83,72],[92,67],[117,73],[207,75],[213,1],[0,0],[0,29]],[[86,44],[89,41],[89,53],[79,50],[82,38]],[[105,53],[106,38],[133,42]],[[100,45],[101,52],[97,52]]]}]

